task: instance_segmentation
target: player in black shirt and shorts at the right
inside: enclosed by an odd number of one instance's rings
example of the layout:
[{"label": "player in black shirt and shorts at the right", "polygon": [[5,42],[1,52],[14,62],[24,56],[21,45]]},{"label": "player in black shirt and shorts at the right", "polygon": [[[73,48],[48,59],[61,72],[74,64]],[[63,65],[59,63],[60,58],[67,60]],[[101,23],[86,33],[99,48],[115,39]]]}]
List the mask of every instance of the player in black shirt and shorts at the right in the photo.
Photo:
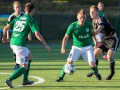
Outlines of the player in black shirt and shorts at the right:
[{"label": "player in black shirt and shorts at the right", "polygon": [[[110,67],[110,74],[106,77],[106,80],[111,80],[113,75],[115,74],[115,60],[113,58],[114,53],[116,52],[119,39],[117,37],[115,29],[112,27],[110,22],[105,17],[99,16],[98,7],[92,5],[90,7],[90,16],[93,19],[93,27],[94,27],[94,35],[98,33],[102,33],[102,40],[97,44],[96,49],[94,50],[96,62],[98,64],[98,56],[102,53],[102,51],[107,52],[107,59]],[[90,72],[89,77],[93,75]]]}]

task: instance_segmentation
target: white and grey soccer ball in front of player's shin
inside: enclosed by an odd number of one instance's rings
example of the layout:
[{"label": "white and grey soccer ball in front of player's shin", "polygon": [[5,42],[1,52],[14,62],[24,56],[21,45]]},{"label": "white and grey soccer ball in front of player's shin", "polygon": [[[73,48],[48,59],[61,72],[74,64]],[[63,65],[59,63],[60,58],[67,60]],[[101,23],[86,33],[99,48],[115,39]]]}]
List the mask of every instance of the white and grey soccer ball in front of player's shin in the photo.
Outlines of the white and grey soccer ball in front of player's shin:
[{"label": "white and grey soccer ball in front of player's shin", "polygon": [[73,64],[66,64],[64,71],[66,74],[72,75],[75,73],[75,66]]}]

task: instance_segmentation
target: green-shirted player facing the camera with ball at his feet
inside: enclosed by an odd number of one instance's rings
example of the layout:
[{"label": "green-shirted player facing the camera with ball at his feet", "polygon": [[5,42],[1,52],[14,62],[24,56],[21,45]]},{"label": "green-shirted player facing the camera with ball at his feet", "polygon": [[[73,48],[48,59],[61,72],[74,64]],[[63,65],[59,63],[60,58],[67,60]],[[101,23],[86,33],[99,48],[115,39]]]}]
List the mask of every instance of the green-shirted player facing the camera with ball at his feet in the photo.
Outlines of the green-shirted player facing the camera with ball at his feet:
[{"label": "green-shirted player facing the camera with ball at his feet", "polygon": [[[66,64],[73,64],[77,61],[80,56],[90,65],[94,74],[98,80],[101,80],[101,75],[98,73],[97,66],[95,64],[95,56],[93,53],[93,48],[91,45],[92,38],[92,25],[89,22],[86,22],[86,13],[84,9],[80,9],[77,12],[78,21],[73,22],[67,29],[67,32],[62,41],[61,53],[65,53],[65,46],[70,35],[73,36],[73,46],[70,51],[70,54],[67,58]],[[93,40],[95,37],[93,36]],[[62,82],[65,76],[64,71],[65,65],[62,68],[61,75],[58,77],[56,82]]]}]

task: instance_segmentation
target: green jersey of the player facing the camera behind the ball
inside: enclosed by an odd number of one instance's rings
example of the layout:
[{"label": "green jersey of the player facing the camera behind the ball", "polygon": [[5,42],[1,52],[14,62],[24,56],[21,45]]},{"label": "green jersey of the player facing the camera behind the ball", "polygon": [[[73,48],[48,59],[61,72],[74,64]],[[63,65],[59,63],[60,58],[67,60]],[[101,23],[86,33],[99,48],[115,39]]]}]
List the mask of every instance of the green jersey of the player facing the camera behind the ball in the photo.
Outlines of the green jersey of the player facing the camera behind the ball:
[{"label": "green jersey of the player facing the camera behind the ball", "polygon": [[78,21],[73,22],[67,29],[66,34],[73,36],[73,46],[85,47],[92,44],[91,30],[92,24],[85,22],[84,26],[78,24]]}]

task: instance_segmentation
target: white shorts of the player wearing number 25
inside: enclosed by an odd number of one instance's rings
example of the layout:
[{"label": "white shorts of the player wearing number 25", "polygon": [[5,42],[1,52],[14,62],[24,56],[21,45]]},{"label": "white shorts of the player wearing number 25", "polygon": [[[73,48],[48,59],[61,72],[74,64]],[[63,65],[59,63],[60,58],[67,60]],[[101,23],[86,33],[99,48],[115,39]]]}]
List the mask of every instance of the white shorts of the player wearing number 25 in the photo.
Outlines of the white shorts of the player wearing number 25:
[{"label": "white shorts of the player wearing number 25", "polygon": [[28,53],[30,52],[27,47],[10,45],[13,52],[16,54],[17,64],[28,64]]}]

